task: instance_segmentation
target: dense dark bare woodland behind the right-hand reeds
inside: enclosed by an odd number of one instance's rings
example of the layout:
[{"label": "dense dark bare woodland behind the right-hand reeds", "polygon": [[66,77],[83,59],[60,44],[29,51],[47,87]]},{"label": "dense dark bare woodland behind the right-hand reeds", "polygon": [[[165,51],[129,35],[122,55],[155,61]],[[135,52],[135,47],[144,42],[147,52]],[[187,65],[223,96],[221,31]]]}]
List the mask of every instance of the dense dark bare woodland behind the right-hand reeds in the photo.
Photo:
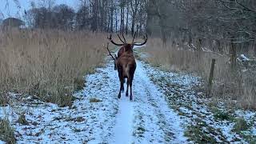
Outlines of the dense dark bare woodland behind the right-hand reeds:
[{"label": "dense dark bare woodland behind the right-hand reeds", "polygon": [[[147,32],[179,43],[254,46],[255,0],[149,0]],[[255,49],[255,47],[254,47]]]}]

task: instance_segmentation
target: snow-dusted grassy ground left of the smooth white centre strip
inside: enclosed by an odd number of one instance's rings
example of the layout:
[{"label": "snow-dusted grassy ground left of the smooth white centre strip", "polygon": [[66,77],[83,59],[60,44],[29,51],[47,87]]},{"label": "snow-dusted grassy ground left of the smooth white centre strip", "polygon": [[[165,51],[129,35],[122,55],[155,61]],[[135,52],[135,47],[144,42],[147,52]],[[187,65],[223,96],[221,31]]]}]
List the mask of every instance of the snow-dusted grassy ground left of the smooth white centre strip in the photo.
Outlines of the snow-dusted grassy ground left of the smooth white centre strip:
[{"label": "snow-dusted grassy ground left of the smooth white centre strip", "polygon": [[[118,101],[115,97],[118,83],[110,80],[116,75],[110,64],[98,69],[97,74],[86,78],[86,89],[75,94],[78,100],[73,107],[58,107],[51,103],[15,104],[14,107],[1,108],[0,116],[7,113],[15,129],[18,143],[27,142],[70,142],[70,143],[98,143],[112,133],[115,114],[118,111]],[[99,102],[90,102],[90,98],[98,98]],[[36,100],[31,100],[36,101]],[[37,102],[34,102],[37,103]],[[16,121],[18,111],[26,112],[29,125],[21,125]],[[3,112],[6,111],[6,112]],[[10,114],[14,111],[14,114]]]}]

